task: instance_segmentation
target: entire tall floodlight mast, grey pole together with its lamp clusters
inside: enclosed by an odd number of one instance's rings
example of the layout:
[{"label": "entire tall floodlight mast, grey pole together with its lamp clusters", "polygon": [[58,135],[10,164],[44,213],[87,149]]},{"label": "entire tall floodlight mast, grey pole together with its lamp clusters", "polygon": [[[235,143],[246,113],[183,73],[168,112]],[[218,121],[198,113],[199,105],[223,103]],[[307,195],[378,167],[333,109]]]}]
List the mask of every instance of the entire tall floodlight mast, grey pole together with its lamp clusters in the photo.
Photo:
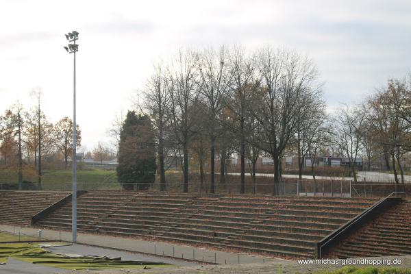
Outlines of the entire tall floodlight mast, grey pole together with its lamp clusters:
[{"label": "entire tall floodlight mast, grey pole together with its lamp clusters", "polygon": [[71,215],[71,231],[72,231],[72,241],[77,242],[77,125],[75,117],[75,53],[79,50],[79,46],[76,45],[75,41],[79,38],[79,33],[76,31],[69,32],[65,34],[66,39],[69,42],[69,47],[64,47],[68,53],[74,53],[74,69],[73,69],[73,208]]}]

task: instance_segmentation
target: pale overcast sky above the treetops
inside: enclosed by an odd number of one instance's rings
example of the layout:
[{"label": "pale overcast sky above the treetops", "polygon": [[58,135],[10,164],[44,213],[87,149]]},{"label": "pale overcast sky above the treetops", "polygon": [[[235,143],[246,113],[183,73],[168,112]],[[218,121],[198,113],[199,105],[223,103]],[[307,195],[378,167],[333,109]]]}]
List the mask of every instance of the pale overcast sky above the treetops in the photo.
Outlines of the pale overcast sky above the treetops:
[{"label": "pale overcast sky above the treetops", "polygon": [[411,1],[21,1],[0,0],[0,111],[40,87],[51,122],[73,115],[92,149],[144,85],[158,58],[179,47],[271,44],[314,60],[330,108],[360,101],[411,72]]}]

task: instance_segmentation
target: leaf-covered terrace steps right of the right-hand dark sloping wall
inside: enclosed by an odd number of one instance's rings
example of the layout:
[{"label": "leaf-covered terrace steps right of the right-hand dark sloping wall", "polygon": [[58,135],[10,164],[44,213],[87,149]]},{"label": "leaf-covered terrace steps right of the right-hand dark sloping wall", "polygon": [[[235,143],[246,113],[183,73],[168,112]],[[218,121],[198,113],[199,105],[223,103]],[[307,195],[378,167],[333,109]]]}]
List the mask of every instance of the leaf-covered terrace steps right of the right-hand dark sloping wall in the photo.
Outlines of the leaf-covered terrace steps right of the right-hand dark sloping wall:
[{"label": "leaf-covered terrace steps right of the right-hand dark sloping wall", "polygon": [[396,206],[364,224],[329,253],[329,258],[399,256],[411,254],[411,201]]}]

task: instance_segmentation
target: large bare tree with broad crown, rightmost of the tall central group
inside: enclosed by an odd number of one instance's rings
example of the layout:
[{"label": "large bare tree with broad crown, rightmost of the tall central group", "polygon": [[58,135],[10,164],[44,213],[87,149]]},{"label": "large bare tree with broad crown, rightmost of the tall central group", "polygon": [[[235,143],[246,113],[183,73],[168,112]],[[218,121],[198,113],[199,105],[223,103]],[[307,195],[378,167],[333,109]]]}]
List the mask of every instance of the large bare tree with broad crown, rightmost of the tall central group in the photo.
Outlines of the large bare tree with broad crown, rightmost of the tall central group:
[{"label": "large bare tree with broad crown, rightmost of the tall central group", "polygon": [[273,158],[276,185],[281,179],[282,155],[296,132],[298,110],[304,108],[301,98],[318,90],[318,72],[308,58],[265,47],[258,53],[258,75],[260,87],[251,112],[262,125],[264,138],[258,145]]}]

